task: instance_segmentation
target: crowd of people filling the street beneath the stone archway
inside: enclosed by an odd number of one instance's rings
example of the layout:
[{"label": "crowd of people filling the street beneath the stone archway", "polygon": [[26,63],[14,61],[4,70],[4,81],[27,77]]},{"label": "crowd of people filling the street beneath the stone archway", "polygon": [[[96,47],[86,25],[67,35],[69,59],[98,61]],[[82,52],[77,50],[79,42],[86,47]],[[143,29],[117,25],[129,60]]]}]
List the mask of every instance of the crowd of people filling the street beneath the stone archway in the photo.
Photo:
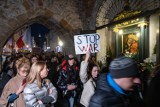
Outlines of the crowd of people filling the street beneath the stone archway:
[{"label": "crowd of people filling the street beneath the stone archway", "polygon": [[0,64],[0,107],[158,105],[159,73],[150,82],[145,98],[140,75],[137,63],[125,56],[102,68],[90,52],[81,61],[72,54],[54,52],[15,54]]}]

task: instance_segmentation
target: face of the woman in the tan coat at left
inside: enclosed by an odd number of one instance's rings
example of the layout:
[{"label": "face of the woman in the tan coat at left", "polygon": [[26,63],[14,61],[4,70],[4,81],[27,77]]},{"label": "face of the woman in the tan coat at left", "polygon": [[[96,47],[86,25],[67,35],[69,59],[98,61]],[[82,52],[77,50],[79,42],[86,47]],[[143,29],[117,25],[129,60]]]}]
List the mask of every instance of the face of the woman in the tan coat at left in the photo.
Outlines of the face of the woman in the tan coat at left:
[{"label": "face of the woman in the tan coat at left", "polygon": [[18,73],[20,76],[26,77],[28,75],[28,70],[30,66],[28,64],[24,64],[21,68],[18,69]]}]

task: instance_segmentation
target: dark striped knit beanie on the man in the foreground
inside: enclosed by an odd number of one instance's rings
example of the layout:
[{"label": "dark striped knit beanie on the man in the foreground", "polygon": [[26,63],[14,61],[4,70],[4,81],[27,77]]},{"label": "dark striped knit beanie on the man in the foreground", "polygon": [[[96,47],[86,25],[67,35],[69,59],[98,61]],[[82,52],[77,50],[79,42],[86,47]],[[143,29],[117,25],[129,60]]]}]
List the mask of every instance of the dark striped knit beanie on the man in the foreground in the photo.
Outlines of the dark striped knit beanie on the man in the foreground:
[{"label": "dark striped knit beanie on the man in the foreground", "polygon": [[138,67],[133,59],[125,56],[115,58],[109,65],[109,71],[113,78],[138,76]]}]

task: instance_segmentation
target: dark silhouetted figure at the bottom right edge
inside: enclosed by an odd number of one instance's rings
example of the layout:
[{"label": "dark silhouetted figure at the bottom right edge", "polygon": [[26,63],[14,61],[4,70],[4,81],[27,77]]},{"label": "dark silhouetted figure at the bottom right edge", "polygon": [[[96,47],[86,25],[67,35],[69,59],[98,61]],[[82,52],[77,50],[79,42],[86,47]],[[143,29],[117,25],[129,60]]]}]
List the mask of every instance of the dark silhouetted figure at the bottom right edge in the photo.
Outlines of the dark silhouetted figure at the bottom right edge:
[{"label": "dark silhouetted figure at the bottom right edge", "polygon": [[156,71],[157,73],[151,79],[145,96],[146,107],[160,107],[160,69]]}]

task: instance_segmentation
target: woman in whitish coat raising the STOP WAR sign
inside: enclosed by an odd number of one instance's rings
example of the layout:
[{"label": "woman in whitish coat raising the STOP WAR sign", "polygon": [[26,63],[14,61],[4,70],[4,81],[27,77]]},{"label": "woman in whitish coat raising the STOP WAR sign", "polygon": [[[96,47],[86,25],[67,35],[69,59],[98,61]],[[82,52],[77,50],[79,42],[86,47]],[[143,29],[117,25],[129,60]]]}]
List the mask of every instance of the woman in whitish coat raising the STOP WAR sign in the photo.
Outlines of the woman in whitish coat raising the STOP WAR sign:
[{"label": "woman in whitish coat raising the STOP WAR sign", "polygon": [[[80,99],[80,103],[88,107],[91,96],[95,92],[96,81],[99,74],[99,67],[97,65],[89,64],[90,52],[86,53],[85,60],[81,62],[80,67],[80,79],[83,83],[83,91]],[[89,68],[89,72],[88,69]],[[89,90],[89,91],[88,91]]]}]

